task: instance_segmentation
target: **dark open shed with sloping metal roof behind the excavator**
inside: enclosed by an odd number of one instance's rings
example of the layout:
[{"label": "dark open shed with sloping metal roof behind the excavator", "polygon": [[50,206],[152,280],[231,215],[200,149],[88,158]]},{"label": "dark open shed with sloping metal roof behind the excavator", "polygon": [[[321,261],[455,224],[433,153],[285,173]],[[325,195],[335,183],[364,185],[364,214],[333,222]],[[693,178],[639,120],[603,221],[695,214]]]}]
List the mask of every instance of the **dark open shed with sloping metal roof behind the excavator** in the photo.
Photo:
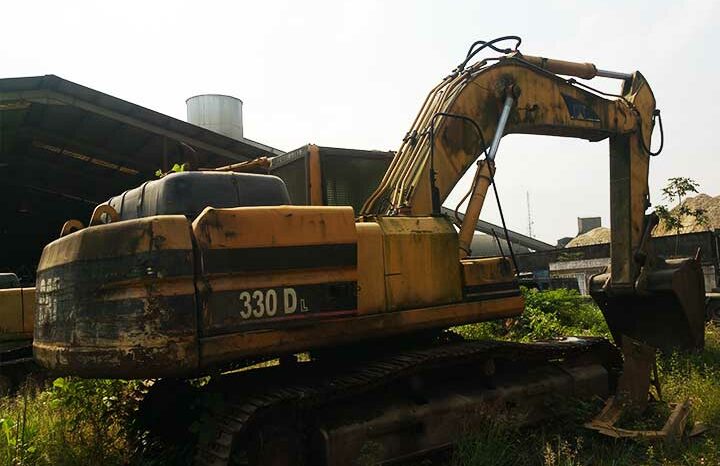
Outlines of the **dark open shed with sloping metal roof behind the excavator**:
[{"label": "dark open shed with sloping metal roof behind the excavator", "polygon": [[0,271],[31,281],[65,220],[158,169],[280,154],[54,75],[0,79]]}]

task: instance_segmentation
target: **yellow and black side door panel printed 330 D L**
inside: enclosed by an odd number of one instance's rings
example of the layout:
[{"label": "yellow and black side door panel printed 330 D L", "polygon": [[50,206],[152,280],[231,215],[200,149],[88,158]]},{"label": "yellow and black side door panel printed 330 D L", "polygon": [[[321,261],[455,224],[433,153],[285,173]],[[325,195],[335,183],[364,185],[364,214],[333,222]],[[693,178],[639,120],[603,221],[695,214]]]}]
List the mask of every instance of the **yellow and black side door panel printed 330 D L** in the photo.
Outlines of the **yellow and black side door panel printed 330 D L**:
[{"label": "yellow and black side door panel printed 330 D L", "polygon": [[203,337],[357,313],[349,207],[208,208],[193,232]]}]

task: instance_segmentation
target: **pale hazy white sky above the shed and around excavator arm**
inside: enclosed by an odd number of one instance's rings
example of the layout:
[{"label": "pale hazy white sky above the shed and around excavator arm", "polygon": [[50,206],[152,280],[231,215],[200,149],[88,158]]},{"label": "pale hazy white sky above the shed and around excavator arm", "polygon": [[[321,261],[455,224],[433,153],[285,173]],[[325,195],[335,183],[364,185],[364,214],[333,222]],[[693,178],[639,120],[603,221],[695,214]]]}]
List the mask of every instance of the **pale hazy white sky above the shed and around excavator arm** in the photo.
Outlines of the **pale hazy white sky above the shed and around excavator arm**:
[{"label": "pale hazy white sky above the shed and around excavator arm", "polygon": [[[720,194],[715,104],[720,2],[5,1],[0,77],[55,74],[185,119],[202,93],[244,102],[245,137],[395,150],[427,92],[469,45],[515,34],[530,55],[640,70],[662,110],[651,200],[685,176]],[[612,80],[591,84],[616,90]],[[655,139],[655,144],[658,140]],[[609,225],[606,142],[510,135],[497,156],[508,227],[555,244],[577,217]],[[466,176],[446,205],[469,186]],[[494,201],[482,218],[498,222]]]}]

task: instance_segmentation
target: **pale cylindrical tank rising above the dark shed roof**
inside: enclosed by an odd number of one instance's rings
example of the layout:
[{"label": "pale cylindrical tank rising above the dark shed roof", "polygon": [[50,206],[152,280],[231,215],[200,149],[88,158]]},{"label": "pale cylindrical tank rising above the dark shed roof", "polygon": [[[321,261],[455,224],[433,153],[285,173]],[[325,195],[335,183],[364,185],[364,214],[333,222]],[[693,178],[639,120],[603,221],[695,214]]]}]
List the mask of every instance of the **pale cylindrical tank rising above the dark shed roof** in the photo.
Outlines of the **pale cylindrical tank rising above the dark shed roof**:
[{"label": "pale cylindrical tank rising above the dark shed roof", "polygon": [[187,105],[187,120],[197,126],[241,140],[242,100],[229,95],[201,94],[190,97]]}]

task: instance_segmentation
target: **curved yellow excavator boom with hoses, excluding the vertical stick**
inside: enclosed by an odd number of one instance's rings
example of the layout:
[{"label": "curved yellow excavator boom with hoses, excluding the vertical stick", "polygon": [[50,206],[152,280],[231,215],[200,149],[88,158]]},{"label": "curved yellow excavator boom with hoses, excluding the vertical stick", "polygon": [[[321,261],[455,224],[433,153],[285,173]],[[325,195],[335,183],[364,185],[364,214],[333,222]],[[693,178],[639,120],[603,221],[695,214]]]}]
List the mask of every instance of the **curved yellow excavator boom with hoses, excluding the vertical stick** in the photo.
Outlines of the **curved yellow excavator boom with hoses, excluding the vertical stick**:
[{"label": "curved yellow excavator boom with hoses, excluding the vertical stick", "polygon": [[[430,214],[431,166],[434,164],[435,185],[442,201],[480,153],[489,148],[508,97],[513,102],[503,135],[525,133],[599,141],[636,134],[643,115],[647,115],[646,137],[652,129],[655,100],[640,73],[624,90],[624,98],[608,100],[524,59],[507,57],[491,66],[481,62],[446,77],[431,91],[363,213]],[[480,133],[457,116],[474,121]],[[647,166],[647,154],[640,152],[638,158]]]}]

